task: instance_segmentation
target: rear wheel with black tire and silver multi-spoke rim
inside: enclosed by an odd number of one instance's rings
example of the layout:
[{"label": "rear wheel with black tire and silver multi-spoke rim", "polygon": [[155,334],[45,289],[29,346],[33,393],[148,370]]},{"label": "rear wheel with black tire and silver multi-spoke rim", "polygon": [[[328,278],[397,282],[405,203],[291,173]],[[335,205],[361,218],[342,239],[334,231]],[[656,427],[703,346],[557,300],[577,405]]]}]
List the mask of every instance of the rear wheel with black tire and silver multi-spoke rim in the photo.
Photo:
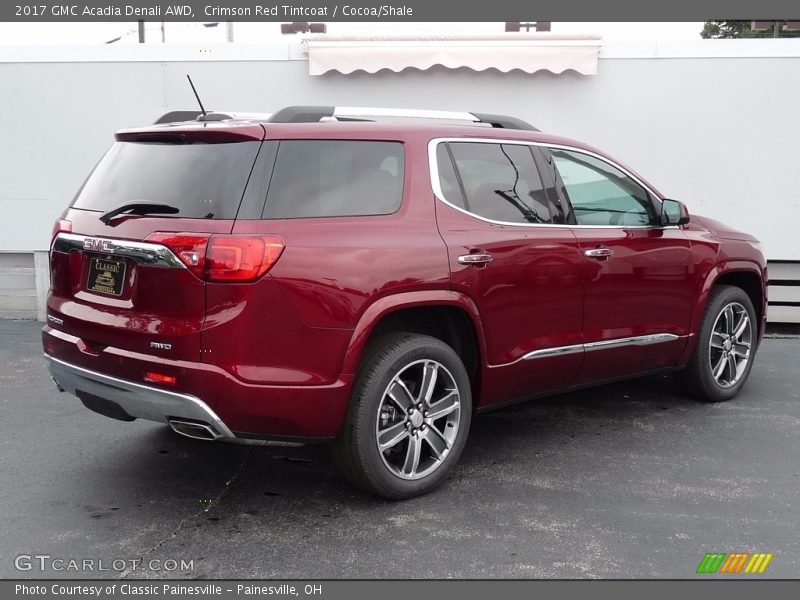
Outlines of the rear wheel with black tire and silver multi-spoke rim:
[{"label": "rear wheel with black tire and silver multi-spoke rim", "polygon": [[452,471],[471,418],[470,380],[455,351],[426,335],[387,334],[365,350],[334,461],[362,490],[413,498]]}]

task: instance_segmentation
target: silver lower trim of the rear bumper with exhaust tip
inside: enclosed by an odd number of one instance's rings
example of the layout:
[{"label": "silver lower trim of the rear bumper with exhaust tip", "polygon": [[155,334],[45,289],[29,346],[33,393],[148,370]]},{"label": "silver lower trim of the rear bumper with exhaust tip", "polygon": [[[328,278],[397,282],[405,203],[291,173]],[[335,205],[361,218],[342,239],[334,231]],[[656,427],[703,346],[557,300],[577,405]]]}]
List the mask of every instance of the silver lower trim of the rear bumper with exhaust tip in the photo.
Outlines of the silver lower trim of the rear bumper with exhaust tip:
[{"label": "silver lower trim of the rear bumper with exhaust tip", "polygon": [[[71,365],[52,356],[45,355],[45,358],[56,384],[80,398],[88,408],[101,414],[123,421],[199,421],[211,429],[215,439],[236,437],[222,419],[199,398],[124,381]],[[112,404],[104,404],[103,401]],[[116,413],[114,406],[119,407],[121,412]],[[132,418],[126,418],[126,415]]]}]

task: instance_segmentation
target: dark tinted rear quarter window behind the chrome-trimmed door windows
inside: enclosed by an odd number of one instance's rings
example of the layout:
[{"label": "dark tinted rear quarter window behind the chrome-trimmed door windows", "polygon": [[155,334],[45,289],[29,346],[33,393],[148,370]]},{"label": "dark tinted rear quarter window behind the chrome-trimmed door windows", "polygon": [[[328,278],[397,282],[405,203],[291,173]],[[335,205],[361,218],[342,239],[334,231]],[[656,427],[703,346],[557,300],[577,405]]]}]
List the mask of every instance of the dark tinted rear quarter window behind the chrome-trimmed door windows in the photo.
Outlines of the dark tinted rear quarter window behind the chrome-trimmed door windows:
[{"label": "dark tinted rear quarter window behind the chrome-trimmed door windows", "polygon": [[280,142],[265,219],[386,215],[403,199],[398,142]]}]

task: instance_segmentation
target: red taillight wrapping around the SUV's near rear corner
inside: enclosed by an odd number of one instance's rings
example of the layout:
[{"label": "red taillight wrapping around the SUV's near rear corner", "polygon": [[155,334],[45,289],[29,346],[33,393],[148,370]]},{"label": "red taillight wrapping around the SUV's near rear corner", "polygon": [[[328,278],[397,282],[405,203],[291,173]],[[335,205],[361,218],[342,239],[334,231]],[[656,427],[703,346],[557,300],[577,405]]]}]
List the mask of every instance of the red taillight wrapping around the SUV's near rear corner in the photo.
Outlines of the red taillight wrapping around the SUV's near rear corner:
[{"label": "red taillight wrapping around the SUV's near rear corner", "polygon": [[283,240],[276,235],[207,235],[156,232],[150,242],[172,250],[186,267],[206,281],[255,281],[280,258]]}]

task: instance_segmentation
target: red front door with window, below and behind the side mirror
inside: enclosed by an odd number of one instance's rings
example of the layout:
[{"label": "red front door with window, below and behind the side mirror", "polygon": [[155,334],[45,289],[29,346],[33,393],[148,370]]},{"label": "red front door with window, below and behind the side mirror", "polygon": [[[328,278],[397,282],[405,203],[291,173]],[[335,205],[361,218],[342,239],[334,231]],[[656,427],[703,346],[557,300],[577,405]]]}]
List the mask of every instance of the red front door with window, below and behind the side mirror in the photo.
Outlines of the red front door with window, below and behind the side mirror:
[{"label": "red front door with window, below and behind the side mirror", "polygon": [[658,200],[621,168],[576,150],[550,154],[583,263],[581,382],[675,365],[694,305],[688,238],[660,226]]}]

